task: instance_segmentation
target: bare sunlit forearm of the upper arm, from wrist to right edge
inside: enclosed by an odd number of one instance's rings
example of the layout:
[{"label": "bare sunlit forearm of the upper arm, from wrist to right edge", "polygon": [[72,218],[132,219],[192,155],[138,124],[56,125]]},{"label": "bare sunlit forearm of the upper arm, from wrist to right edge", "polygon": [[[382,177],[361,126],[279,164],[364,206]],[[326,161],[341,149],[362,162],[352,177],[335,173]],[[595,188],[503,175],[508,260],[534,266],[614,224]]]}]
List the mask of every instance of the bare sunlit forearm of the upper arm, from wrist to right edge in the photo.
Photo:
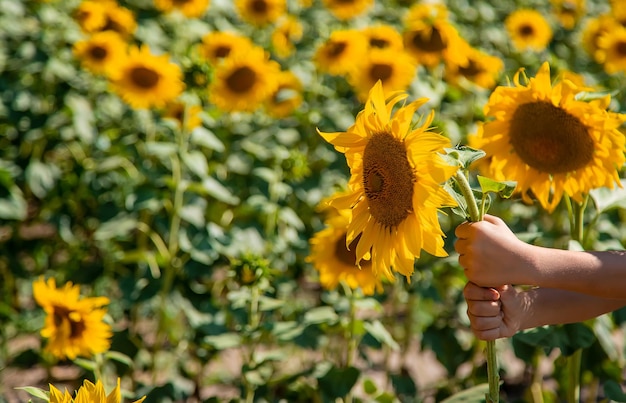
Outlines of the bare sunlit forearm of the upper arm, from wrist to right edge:
[{"label": "bare sunlit forearm of the upper arm, from wrist to right edge", "polygon": [[626,299],[626,252],[579,252],[535,247],[528,282],[600,298]]}]

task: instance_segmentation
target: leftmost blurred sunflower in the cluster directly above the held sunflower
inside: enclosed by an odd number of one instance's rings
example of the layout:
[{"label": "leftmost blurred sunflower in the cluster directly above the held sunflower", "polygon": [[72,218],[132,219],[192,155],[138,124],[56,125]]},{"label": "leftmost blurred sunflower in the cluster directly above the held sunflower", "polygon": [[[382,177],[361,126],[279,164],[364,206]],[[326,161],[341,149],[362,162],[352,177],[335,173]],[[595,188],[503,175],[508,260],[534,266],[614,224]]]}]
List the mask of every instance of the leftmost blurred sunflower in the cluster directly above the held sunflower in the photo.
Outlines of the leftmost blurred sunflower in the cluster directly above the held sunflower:
[{"label": "leftmost blurred sunflower in the cluster directly above the held sunflower", "polygon": [[319,71],[340,76],[354,70],[366,52],[367,41],[359,31],[337,30],[318,46],[313,60]]}]

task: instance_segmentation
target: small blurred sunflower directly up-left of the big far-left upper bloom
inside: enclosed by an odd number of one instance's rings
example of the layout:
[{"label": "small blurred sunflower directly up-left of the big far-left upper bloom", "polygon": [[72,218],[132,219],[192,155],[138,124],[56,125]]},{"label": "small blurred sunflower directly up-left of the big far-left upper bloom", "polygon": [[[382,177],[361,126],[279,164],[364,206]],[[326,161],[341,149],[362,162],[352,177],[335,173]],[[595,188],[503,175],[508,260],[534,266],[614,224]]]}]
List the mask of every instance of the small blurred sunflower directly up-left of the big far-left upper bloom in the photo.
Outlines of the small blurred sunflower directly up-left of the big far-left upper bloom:
[{"label": "small blurred sunflower directly up-left of the big far-left upper bloom", "polygon": [[127,47],[117,32],[104,31],[76,42],[73,50],[81,64],[92,73],[107,75],[119,68],[126,57]]}]

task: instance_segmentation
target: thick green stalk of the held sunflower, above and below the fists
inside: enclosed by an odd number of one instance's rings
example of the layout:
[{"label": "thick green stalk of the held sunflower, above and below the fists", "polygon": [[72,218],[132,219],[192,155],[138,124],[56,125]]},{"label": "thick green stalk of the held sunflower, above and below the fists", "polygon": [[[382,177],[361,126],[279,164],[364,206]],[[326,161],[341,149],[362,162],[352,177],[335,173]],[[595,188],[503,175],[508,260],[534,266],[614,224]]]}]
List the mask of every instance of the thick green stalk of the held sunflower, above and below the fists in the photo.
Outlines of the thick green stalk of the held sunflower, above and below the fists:
[{"label": "thick green stalk of the held sunflower, above and below the fists", "polygon": [[[472,192],[469,181],[465,177],[465,173],[458,169],[454,175],[461,194],[465,198],[467,203],[467,210],[470,216],[470,221],[481,221],[483,216],[478,209],[476,198]],[[485,396],[487,403],[498,403],[500,401],[500,376],[498,375],[498,357],[496,356],[496,341],[487,341],[487,380],[489,382],[489,393]]]}]

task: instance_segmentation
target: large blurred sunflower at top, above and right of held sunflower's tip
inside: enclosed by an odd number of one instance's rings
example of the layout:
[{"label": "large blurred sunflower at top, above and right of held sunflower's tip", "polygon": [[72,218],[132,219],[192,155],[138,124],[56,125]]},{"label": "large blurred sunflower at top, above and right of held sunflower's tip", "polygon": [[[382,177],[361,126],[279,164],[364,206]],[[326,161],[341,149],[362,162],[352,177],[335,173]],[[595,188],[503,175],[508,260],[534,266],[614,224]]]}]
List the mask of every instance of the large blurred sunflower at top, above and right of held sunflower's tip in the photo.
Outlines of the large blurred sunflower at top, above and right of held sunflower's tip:
[{"label": "large blurred sunflower at top, above and right of held sunflower's tip", "polygon": [[404,20],[403,42],[406,51],[418,64],[434,67],[444,61],[448,65],[467,64],[466,44],[447,19],[443,4],[418,3]]}]

